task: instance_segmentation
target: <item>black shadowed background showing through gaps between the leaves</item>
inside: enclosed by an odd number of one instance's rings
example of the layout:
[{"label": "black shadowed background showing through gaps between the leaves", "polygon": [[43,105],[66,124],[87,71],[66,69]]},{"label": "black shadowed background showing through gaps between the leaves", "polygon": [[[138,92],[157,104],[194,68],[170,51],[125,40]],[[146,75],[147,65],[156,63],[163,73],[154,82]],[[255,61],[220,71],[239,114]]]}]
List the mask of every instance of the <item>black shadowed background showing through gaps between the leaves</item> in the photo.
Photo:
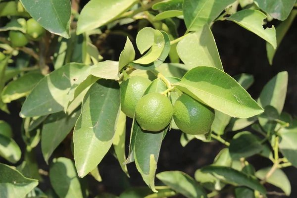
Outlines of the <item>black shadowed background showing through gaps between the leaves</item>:
[{"label": "black shadowed background showing through gaps between the leaves", "polygon": [[[185,31],[185,27],[181,24],[179,29],[181,34]],[[278,72],[288,71],[289,85],[287,99],[285,102],[284,111],[291,115],[297,115],[297,20],[294,21],[286,37],[279,46],[275,55],[273,65],[270,66],[266,57],[266,42],[255,34],[247,31],[239,25],[230,21],[216,22],[212,27],[213,35],[217,43],[220,57],[223,63],[225,72],[234,76],[240,73],[249,73],[254,76],[254,84],[248,92],[256,99],[263,86]],[[130,32],[136,36],[137,32]],[[114,49],[114,58],[117,60],[120,51],[125,44],[125,37],[111,35],[107,37],[106,45],[110,49]],[[104,57],[104,55],[103,55]],[[105,56],[106,57],[106,56]],[[106,57],[108,58],[108,57]],[[20,136],[21,118],[19,117],[20,105],[16,102],[9,104],[11,114],[0,112],[0,120],[7,121],[12,127],[14,137],[17,144],[25,149]],[[131,128],[131,120],[127,124],[127,147],[129,145],[129,131]],[[249,130],[249,129],[247,129]],[[168,170],[180,170],[194,177],[194,173],[198,168],[204,165],[211,164],[217,153],[224,148],[218,142],[203,143],[198,140],[191,141],[185,148],[180,144],[181,132],[172,130],[168,132],[163,141],[159,161],[157,164],[157,172]],[[62,144],[58,150],[63,153],[66,145]],[[49,166],[46,165],[40,145],[35,149],[38,157],[38,163],[41,169],[49,171]],[[270,161],[254,156],[247,159],[255,169],[271,165]],[[0,162],[7,163],[3,159]],[[107,154],[99,164],[99,171],[103,182],[97,182],[91,176],[87,176],[88,185],[91,188],[90,197],[108,192],[119,195],[125,188],[131,186],[146,186],[141,175],[137,172],[135,164],[129,164],[128,170],[131,178],[126,177],[112,154]],[[297,169],[288,167],[283,169],[289,177],[292,185],[291,198],[297,198]],[[44,177],[45,182],[40,183],[40,188],[46,190],[50,188],[49,178]],[[158,184],[158,182],[156,182]],[[268,191],[282,192],[280,189],[266,184]],[[217,198],[231,198],[231,195],[217,196]],[[268,196],[269,198],[280,198],[280,196]],[[182,198],[177,196],[176,198]]]}]

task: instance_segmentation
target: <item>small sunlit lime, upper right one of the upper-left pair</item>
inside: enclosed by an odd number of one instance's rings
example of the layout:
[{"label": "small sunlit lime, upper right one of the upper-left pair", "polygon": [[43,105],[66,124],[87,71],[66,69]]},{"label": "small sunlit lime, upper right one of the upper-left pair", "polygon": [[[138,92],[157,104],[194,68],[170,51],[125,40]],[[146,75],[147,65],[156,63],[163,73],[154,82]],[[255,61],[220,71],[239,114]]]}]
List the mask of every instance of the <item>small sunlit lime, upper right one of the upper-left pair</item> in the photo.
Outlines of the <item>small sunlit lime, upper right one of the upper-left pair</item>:
[{"label": "small sunlit lime, upper right one of the upper-left pair", "polygon": [[34,18],[27,20],[27,35],[30,40],[41,39],[45,32],[46,30]]}]

